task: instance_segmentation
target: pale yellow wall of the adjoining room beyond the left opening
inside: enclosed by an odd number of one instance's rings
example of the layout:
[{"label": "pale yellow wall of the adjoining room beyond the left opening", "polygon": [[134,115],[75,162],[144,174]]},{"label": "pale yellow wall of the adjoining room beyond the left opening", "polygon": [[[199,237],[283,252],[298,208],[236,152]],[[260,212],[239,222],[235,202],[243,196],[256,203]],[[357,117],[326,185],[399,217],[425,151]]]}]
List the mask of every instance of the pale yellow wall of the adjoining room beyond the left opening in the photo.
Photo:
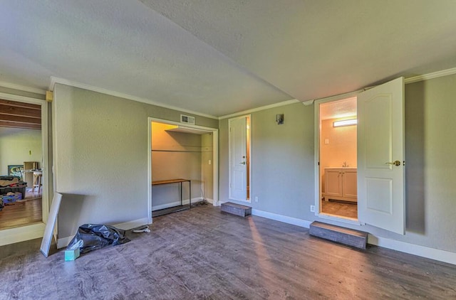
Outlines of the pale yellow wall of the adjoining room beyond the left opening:
[{"label": "pale yellow wall of the adjoining room beyond the left opening", "polygon": [[41,167],[41,144],[41,130],[0,127],[0,175],[8,175],[9,165],[24,161],[38,161]]}]

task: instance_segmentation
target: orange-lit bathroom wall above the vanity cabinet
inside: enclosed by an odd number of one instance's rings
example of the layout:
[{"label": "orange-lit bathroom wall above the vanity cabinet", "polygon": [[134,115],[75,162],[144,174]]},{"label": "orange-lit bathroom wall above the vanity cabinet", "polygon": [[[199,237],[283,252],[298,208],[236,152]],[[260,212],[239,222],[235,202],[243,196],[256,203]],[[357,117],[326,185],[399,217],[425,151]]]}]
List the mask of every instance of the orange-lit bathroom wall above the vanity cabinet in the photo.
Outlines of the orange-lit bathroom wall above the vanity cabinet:
[{"label": "orange-lit bathroom wall above the vanity cabinet", "polygon": [[[344,162],[348,166],[356,168],[356,125],[333,127],[333,122],[340,120],[342,119],[326,119],[321,121],[320,176],[322,192],[325,191],[325,168],[341,167]],[[328,144],[325,144],[325,139],[328,139]]]}]

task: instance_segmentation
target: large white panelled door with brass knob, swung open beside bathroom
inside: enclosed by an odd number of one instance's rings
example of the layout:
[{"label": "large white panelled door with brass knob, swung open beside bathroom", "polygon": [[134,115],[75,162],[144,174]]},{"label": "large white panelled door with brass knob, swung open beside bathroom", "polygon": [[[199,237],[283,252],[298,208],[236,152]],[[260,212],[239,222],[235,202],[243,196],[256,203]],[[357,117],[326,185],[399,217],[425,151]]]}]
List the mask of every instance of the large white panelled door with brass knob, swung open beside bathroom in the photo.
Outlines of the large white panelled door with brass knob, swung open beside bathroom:
[{"label": "large white panelled door with brass knob, swung open beside bathroom", "polygon": [[358,220],[405,233],[403,77],[358,95]]}]

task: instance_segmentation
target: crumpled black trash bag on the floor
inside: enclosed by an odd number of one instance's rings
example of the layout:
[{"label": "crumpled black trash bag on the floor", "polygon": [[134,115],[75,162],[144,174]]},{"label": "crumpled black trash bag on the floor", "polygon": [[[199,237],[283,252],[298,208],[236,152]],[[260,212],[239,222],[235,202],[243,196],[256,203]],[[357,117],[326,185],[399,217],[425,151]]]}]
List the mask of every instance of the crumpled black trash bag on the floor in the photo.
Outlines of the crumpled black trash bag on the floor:
[{"label": "crumpled black trash bag on the floor", "polygon": [[84,224],[79,227],[66,249],[79,248],[79,252],[83,254],[108,245],[125,244],[125,242],[130,242],[130,239],[125,237],[125,230],[110,225]]}]

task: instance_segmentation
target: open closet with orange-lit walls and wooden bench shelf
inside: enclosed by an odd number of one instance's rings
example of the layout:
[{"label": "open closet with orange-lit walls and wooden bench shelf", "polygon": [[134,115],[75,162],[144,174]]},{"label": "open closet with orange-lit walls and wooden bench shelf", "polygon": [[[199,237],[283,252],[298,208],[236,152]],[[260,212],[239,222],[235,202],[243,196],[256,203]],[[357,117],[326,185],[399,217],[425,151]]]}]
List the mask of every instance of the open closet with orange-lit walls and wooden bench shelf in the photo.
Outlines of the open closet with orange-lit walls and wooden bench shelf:
[{"label": "open closet with orange-lit walls and wooden bench shelf", "polygon": [[149,118],[149,218],[219,205],[218,129]]}]

